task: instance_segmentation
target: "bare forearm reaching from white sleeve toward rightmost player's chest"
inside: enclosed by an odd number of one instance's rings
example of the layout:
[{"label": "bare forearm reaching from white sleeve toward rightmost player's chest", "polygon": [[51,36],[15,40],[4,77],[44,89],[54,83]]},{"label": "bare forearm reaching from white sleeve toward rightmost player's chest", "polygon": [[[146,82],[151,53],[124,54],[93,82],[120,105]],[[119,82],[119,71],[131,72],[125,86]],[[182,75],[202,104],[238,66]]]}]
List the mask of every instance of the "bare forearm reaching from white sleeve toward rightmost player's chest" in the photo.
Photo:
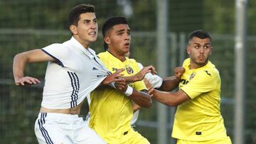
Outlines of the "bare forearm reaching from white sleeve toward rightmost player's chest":
[{"label": "bare forearm reaching from white sleeve toward rightmost player's chest", "polygon": [[176,87],[178,87],[178,82],[179,79],[177,79],[175,76],[166,77],[164,78],[161,87],[159,87],[159,90],[164,92],[171,92],[172,90],[176,89]]}]

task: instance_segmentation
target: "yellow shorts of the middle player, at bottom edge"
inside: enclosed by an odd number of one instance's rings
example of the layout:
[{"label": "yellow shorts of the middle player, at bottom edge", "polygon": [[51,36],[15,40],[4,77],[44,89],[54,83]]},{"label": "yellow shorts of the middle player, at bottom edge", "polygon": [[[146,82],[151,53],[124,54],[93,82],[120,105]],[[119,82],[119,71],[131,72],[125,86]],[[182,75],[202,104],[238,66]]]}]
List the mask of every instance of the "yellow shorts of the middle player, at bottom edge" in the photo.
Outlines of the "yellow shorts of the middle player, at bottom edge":
[{"label": "yellow shorts of the middle player, at bottom edge", "polygon": [[150,144],[149,140],[146,140],[141,134],[137,131],[134,131],[132,128],[129,130],[129,140],[125,141],[122,144]]}]

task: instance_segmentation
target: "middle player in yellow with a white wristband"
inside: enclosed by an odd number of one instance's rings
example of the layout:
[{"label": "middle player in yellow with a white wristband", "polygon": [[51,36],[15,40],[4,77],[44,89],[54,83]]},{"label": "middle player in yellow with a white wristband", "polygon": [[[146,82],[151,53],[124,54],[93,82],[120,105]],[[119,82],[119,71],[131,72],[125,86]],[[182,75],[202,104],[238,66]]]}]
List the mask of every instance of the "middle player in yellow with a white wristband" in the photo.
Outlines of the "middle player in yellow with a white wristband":
[{"label": "middle player in yellow with a white wristband", "polygon": [[[131,43],[126,18],[121,16],[109,18],[102,27],[102,34],[107,51],[100,53],[98,57],[105,67],[112,73],[124,68],[122,72],[124,79],[140,72],[136,60],[125,57]],[[143,81],[126,80],[129,86],[124,87],[126,91],[124,93],[111,87],[100,87],[90,94],[89,126],[110,144],[149,143],[131,128],[130,121],[133,115],[132,101],[139,106],[149,108],[152,104],[151,98]]]}]

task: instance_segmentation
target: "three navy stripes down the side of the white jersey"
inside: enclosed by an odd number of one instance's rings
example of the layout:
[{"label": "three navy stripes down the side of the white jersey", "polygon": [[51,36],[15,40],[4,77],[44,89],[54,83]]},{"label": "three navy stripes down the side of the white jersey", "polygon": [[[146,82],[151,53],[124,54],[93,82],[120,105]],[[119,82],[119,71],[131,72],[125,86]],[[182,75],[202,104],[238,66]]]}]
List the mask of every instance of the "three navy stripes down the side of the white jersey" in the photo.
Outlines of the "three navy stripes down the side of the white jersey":
[{"label": "three navy stripes down the side of the white jersey", "polygon": [[68,72],[68,75],[71,80],[71,85],[73,87],[73,92],[71,94],[71,101],[70,101],[70,107],[73,108],[75,106],[78,106],[78,91],[80,89],[79,79],[78,75],[75,74],[75,72]]}]

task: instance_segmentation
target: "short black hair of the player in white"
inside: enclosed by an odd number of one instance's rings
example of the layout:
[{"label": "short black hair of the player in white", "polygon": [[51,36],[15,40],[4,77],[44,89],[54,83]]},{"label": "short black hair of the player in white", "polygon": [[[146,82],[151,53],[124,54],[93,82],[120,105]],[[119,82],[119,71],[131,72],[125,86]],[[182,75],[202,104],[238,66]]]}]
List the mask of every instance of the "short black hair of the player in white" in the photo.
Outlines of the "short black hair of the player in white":
[{"label": "short black hair of the player in white", "polygon": [[73,7],[68,15],[68,26],[78,26],[80,14],[82,13],[95,13],[95,6],[90,4],[79,4],[78,6]]}]

